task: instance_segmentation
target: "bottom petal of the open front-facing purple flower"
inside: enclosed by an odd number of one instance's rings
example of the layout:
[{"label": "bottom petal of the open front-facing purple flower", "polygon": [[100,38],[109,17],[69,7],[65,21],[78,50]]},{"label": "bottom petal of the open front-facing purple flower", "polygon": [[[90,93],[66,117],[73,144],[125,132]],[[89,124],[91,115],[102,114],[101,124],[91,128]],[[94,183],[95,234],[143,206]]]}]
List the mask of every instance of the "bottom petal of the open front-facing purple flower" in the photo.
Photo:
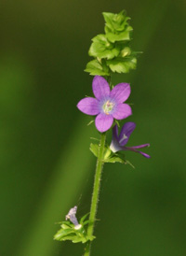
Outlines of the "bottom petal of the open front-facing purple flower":
[{"label": "bottom petal of the open front-facing purple flower", "polygon": [[95,124],[100,133],[104,133],[111,128],[113,124],[113,116],[100,113],[96,117]]}]

